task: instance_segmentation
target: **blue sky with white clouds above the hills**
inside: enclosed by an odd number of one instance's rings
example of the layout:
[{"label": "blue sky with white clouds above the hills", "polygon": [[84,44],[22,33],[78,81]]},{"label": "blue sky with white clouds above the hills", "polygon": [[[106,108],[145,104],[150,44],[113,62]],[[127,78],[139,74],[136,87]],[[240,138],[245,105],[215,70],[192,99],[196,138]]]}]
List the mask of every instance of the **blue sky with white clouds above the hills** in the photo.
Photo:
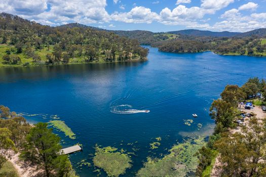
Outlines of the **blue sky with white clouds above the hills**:
[{"label": "blue sky with white clouds above the hills", "polygon": [[266,28],[266,0],[0,0],[0,12],[50,26],[245,32]]}]

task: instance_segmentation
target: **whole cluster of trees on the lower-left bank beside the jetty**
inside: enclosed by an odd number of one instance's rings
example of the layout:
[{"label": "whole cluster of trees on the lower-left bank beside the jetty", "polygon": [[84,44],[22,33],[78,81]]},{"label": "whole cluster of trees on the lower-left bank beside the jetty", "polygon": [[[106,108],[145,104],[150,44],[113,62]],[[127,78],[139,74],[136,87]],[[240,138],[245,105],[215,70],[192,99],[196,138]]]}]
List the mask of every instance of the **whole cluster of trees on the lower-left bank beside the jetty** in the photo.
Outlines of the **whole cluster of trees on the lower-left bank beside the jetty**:
[{"label": "whole cluster of trees on the lower-left bank beside the jetty", "polygon": [[20,152],[21,160],[44,170],[47,177],[76,176],[68,156],[61,152],[60,138],[47,125],[40,122],[31,126],[24,117],[0,105],[0,169],[13,151]]}]

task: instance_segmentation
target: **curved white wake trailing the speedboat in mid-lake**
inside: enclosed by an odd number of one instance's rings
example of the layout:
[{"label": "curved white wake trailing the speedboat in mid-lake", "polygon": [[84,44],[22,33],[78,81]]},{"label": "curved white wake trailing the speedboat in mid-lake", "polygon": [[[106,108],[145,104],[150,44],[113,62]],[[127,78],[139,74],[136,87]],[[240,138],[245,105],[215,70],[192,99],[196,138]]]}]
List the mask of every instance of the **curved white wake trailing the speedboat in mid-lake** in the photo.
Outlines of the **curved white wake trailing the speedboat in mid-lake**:
[{"label": "curved white wake trailing the speedboat in mid-lake", "polygon": [[149,110],[132,109],[131,105],[112,106],[110,111],[111,113],[114,113],[114,114],[149,113]]}]

